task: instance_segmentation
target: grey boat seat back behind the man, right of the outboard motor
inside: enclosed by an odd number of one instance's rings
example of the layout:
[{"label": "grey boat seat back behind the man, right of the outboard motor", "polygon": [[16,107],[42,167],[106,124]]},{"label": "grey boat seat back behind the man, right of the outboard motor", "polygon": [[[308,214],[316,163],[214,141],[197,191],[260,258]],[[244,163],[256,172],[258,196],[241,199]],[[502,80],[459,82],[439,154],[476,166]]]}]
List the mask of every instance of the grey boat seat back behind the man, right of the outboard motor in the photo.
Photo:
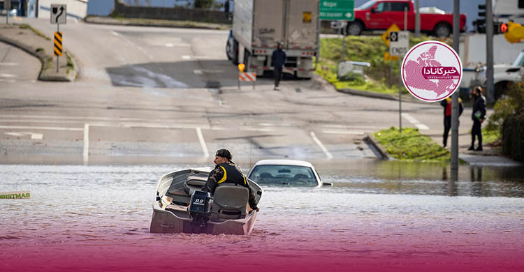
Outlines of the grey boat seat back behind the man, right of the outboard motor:
[{"label": "grey boat seat back behind the man, right of the outboard motor", "polygon": [[245,218],[249,190],[244,186],[223,184],[214,190],[212,218],[239,219]]}]

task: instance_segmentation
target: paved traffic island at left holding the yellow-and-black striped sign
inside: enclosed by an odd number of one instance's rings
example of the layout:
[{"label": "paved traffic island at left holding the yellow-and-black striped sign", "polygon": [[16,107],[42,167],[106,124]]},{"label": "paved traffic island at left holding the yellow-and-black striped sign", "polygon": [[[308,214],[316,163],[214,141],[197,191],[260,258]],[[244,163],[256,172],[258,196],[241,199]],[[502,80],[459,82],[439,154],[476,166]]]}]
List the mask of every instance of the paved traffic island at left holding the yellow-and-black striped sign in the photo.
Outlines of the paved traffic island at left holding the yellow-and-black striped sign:
[{"label": "paved traffic island at left holding the yellow-and-black striped sign", "polygon": [[18,47],[40,59],[42,67],[38,80],[72,82],[77,76],[78,65],[65,49],[59,57],[59,72],[57,72],[53,40],[42,33],[37,33],[28,24],[0,24],[0,42]]}]

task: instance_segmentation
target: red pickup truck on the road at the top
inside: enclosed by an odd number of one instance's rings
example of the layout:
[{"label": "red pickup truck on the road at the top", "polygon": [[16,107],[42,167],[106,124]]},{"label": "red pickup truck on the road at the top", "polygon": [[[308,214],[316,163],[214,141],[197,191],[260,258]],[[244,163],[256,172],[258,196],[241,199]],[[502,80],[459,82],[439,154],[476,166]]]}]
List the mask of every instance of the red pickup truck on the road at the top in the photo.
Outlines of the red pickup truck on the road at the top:
[{"label": "red pickup truck on the road at the top", "polygon": [[[415,12],[412,0],[372,0],[355,8],[355,20],[347,22],[348,35],[361,35],[364,30],[388,29],[397,24],[404,29],[404,10],[407,8],[407,30],[415,30]],[[460,15],[460,31],[464,31],[466,15]],[[421,13],[421,32],[447,37],[452,32],[453,14]]]}]

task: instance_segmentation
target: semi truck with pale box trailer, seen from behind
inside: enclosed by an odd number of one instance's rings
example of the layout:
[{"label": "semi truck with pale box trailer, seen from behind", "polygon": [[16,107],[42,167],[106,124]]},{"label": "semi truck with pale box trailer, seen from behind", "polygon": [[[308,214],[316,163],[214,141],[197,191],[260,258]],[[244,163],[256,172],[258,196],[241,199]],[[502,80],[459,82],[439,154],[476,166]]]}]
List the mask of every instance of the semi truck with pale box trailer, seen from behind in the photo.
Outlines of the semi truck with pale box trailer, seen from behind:
[{"label": "semi truck with pale box trailer, seen from behind", "polygon": [[271,54],[280,42],[287,56],[282,71],[308,79],[319,35],[319,0],[235,0],[226,54],[260,76],[273,70]]}]

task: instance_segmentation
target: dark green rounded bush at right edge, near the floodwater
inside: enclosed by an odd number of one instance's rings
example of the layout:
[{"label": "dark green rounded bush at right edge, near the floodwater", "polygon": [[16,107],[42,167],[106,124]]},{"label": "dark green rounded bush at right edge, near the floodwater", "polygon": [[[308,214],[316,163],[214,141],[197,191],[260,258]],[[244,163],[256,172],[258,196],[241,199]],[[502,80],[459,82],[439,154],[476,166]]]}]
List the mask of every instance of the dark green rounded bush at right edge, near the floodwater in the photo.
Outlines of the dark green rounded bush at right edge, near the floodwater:
[{"label": "dark green rounded bush at right edge, near the floodwater", "polygon": [[502,152],[514,160],[524,161],[524,112],[509,115],[504,120]]}]

